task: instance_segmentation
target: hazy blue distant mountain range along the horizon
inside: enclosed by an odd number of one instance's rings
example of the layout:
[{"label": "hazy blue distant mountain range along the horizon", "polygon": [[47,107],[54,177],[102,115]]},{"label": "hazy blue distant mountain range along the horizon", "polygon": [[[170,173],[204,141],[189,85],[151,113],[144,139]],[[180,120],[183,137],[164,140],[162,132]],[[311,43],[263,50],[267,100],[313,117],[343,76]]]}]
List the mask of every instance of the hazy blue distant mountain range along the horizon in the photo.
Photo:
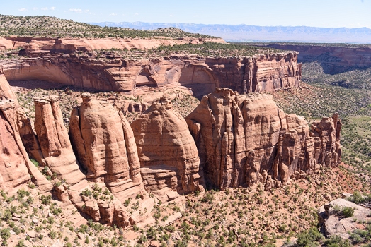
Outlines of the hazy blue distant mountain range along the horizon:
[{"label": "hazy blue distant mountain range along the horizon", "polygon": [[222,37],[230,42],[325,42],[371,43],[370,28],[263,27],[257,25],[222,25],[188,23],[90,23],[93,25],[152,30],[180,28],[186,32]]}]

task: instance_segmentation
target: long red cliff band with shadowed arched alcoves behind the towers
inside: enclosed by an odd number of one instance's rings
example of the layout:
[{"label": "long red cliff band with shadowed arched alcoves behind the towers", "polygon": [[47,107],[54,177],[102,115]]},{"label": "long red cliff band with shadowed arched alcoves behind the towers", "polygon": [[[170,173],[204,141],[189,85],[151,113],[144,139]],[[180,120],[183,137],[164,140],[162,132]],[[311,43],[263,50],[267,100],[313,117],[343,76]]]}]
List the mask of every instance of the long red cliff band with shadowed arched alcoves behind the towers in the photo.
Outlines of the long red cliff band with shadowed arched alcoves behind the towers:
[{"label": "long red cliff band with shadowed arched alcoves behind the towers", "polygon": [[[31,56],[31,55],[28,55]],[[34,54],[0,61],[8,80],[46,80],[96,90],[133,93],[154,88],[191,88],[196,97],[217,87],[239,93],[295,87],[301,79],[297,52],[245,58],[170,56],[130,60],[76,54]]]}]

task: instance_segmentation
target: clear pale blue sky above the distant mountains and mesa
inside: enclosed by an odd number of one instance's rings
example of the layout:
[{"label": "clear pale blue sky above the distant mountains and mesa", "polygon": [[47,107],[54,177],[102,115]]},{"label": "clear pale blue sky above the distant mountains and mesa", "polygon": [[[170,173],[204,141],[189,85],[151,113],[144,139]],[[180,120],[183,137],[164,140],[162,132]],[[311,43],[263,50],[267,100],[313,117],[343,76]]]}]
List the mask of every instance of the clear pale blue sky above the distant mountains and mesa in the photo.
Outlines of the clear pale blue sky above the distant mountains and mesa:
[{"label": "clear pale blue sky above the distant mountains and mesa", "polygon": [[81,22],[371,28],[371,0],[1,0],[0,13]]}]

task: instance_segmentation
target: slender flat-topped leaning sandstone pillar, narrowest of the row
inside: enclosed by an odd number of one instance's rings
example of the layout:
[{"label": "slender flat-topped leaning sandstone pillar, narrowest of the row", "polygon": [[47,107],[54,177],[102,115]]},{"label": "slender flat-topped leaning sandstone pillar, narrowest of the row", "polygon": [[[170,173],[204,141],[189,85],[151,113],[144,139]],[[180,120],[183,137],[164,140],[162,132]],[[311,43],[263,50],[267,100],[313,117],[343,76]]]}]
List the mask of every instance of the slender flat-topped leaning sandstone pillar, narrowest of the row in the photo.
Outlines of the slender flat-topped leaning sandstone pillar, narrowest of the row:
[{"label": "slender flat-topped leaning sandstone pillar, narrowest of the row", "polygon": [[64,127],[59,97],[35,98],[35,131],[45,164],[53,174],[68,184],[85,178],[72,150]]}]

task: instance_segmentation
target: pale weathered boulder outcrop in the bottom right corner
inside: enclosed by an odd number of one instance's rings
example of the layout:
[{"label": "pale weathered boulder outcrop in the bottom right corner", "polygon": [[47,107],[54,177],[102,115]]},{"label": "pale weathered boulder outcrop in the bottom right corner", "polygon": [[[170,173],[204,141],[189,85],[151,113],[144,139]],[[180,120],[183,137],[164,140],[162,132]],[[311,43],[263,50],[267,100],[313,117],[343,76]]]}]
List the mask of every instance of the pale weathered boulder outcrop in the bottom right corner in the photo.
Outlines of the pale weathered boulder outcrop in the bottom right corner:
[{"label": "pale weathered boulder outcrop in the bottom right corner", "polygon": [[[335,206],[338,206],[340,209],[343,207],[352,207],[354,215],[352,217],[338,215],[333,209]],[[324,235],[326,237],[337,235],[341,236],[343,239],[349,239],[349,233],[352,233],[355,229],[363,229],[363,225],[358,224],[358,222],[367,222],[370,219],[370,213],[370,208],[357,205],[341,198],[320,207],[317,212],[321,231]]]}]

